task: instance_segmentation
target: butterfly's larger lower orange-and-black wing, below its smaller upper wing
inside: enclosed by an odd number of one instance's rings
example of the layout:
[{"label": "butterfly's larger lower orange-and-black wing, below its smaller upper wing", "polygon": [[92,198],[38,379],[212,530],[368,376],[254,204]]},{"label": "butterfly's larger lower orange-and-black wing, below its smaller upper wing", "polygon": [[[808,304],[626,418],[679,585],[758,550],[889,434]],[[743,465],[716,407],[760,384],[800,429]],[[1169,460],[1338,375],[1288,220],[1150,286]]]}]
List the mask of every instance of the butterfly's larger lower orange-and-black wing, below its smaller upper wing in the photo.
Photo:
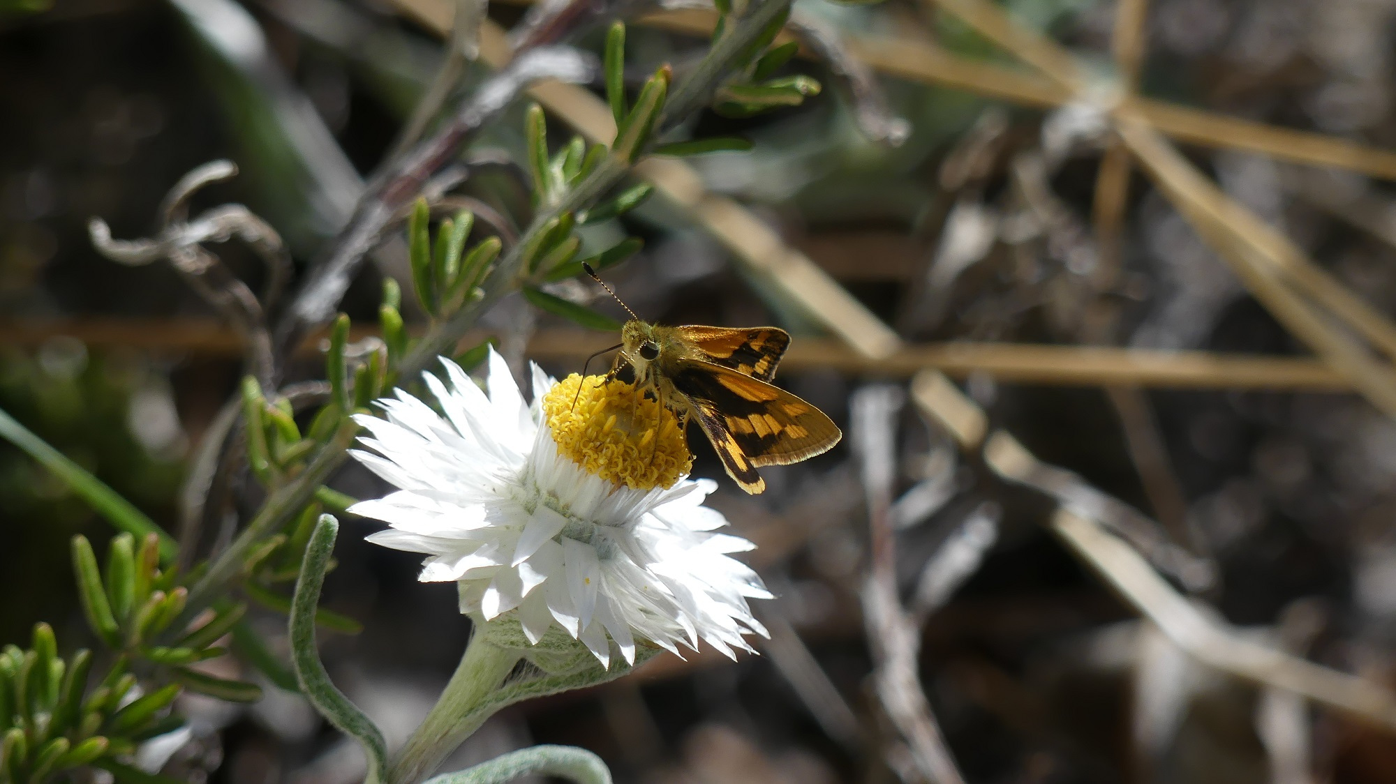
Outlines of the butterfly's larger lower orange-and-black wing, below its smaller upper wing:
[{"label": "butterfly's larger lower orange-and-black wing, below its smaller upper wing", "polygon": [[819,409],[736,370],[683,360],[670,375],[732,478],[748,492],[765,487],[757,466],[785,466],[821,455],[842,432]]}]

